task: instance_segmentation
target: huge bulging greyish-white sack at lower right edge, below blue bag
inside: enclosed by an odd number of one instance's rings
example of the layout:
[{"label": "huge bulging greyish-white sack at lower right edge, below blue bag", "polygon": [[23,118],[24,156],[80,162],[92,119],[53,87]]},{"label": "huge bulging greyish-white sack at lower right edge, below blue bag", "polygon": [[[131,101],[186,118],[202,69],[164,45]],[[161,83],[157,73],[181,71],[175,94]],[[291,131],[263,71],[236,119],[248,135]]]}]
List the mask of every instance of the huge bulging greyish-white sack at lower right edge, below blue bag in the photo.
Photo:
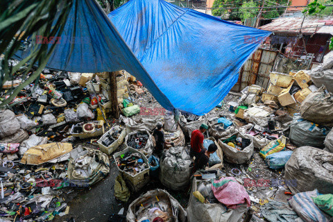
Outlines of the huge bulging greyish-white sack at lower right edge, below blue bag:
[{"label": "huge bulging greyish-white sack at lower right edge, below blue bag", "polygon": [[297,148],[285,166],[284,179],[293,194],[314,189],[332,193],[333,153],[311,146]]}]

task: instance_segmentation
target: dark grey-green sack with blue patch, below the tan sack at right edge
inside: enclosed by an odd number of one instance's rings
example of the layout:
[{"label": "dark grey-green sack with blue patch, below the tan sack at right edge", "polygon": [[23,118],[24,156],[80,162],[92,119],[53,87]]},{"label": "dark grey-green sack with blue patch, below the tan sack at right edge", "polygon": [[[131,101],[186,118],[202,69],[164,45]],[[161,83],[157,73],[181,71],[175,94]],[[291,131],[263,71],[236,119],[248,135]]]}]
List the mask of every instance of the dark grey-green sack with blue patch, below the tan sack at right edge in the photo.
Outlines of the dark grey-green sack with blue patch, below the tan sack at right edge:
[{"label": "dark grey-green sack with blue patch, below the tan sack at right edge", "polygon": [[330,128],[317,126],[300,117],[300,114],[293,114],[293,122],[290,126],[289,139],[296,146],[314,146],[324,148],[324,140]]}]

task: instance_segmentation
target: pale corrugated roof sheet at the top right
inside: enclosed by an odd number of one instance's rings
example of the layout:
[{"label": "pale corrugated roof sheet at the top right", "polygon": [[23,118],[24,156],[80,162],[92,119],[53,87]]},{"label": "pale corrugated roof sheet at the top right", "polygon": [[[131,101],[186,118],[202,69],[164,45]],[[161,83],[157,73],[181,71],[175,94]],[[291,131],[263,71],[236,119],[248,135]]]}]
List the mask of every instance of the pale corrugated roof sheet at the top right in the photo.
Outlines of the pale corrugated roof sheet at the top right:
[{"label": "pale corrugated roof sheet at the top right", "polygon": [[332,33],[332,28],[323,27],[333,27],[329,26],[333,23],[333,18],[326,18],[325,20],[320,18],[305,18],[302,24],[302,17],[282,17],[274,19],[270,24],[261,26],[260,29],[271,31],[275,33],[298,33],[302,25],[302,33],[313,34],[318,33]]}]

